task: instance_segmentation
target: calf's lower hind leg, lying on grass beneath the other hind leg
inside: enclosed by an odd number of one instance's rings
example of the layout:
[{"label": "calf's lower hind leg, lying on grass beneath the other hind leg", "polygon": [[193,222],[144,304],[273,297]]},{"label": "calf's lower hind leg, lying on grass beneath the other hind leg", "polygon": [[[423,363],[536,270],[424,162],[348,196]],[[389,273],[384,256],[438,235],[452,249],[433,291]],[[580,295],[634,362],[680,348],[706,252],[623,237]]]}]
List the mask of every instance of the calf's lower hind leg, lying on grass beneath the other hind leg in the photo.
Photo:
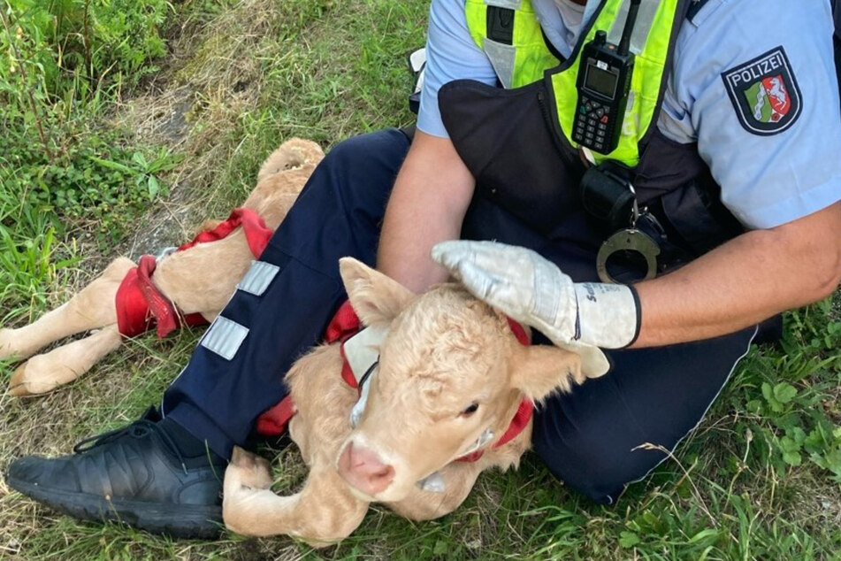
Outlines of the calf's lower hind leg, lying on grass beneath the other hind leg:
[{"label": "calf's lower hind leg, lying on grass beneath the other hind leg", "polygon": [[32,357],[11,375],[9,393],[12,396],[43,394],[76,380],[102,357],[116,350],[121,341],[114,324],[47,354]]}]

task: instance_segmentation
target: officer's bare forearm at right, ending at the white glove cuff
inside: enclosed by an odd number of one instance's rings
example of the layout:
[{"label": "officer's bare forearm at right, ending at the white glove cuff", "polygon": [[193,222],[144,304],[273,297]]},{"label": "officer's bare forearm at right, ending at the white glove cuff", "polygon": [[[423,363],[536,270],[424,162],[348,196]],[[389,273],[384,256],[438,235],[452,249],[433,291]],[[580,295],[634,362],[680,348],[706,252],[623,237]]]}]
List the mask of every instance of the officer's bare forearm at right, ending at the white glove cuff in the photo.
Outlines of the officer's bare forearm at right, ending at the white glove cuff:
[{"label": "officer's bare forearm at right, ending at the white glove cuff", "polygon": [[756,230],[690,265],[636,285],[642,324],[634,347],[732,333],[829,296],[841,278],[841,204]]}]

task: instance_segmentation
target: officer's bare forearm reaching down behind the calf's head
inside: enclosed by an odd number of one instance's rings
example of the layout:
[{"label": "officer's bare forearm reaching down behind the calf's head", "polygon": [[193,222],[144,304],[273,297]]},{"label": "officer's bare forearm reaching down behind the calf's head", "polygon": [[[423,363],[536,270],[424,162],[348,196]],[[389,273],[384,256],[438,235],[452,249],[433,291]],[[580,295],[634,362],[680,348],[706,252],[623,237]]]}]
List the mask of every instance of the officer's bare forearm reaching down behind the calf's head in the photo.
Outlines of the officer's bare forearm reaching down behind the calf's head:
[{"label": "officer's bare forearm reaching down behind the calf's head", "polygon": [[416,292],[446,281],[430,250],[458,239],[473,186],[452,142],[417,131],[386,207],[377,268]]}]

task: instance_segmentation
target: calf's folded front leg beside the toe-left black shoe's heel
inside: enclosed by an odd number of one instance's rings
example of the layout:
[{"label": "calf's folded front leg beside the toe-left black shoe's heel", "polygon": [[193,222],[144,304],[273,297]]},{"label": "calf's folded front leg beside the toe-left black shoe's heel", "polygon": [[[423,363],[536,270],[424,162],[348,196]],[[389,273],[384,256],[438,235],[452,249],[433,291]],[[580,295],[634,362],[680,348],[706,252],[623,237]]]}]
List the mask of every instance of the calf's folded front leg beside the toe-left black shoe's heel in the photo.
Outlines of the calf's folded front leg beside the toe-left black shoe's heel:
[{"label": "calf's folded front leg beside the toe-left black shoe's heel", "polygon": [[368,503],[357,499],[331,466],[314,465],[302,490],[278,496],[269,463],[235,448],[225,472],[222,516],[238,534],[287,534],[312,547],[338,542],[362,522]]}]

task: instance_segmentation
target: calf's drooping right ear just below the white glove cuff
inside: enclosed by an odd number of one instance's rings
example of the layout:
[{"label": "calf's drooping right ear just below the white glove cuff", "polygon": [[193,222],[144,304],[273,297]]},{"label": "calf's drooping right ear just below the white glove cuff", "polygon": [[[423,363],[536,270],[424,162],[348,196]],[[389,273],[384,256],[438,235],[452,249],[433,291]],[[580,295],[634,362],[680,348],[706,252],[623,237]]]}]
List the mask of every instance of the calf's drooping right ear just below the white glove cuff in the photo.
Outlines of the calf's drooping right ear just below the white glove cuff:
[{"label": "calf's drooping right ear just below the white glove cuff", "polygon": [[580,384],[587,379],[576,353],[550,345],[517,343],[510,365],[514,387],[535,402],[557,390],[568,392],[573,381]]}]

